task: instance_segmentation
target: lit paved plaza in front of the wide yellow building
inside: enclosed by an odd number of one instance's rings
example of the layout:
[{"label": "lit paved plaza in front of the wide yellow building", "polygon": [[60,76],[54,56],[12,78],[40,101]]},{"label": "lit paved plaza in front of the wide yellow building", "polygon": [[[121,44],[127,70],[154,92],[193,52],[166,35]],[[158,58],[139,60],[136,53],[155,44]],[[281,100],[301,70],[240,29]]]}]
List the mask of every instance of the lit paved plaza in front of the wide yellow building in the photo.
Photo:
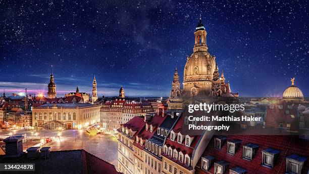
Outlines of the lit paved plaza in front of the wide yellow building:
[{"label": "lit paved plaza in front of the wide yellow building", "polygon": [[[12,135],[26,134],[27,137],[33,136],[33,131],[24,129],[0,132],[0,135],[3,136],[10,133]],[[44,145],[50,146],[50,151],[84,149],[92,155],[117,166],[117,153],[115,152],[117,152],[118,142],[117,138],[113,138],[111,135],[90,136],[86,130],[74,129],[63,130],[61,132],[57,130],[37,130],[36,133],[38,137],[55,137],[55,140]],[[24,146],[26,145],[24,143]]]}]

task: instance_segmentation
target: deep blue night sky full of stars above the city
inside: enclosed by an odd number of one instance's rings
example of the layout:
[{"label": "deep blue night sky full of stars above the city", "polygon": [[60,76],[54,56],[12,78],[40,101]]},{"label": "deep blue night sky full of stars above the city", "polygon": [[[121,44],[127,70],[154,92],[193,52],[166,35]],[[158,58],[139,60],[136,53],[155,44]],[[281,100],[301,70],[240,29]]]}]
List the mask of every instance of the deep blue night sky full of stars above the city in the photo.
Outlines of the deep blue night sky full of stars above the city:
[{"label": "deep blue night sky full of stars above the city", "polygon": [[209,52],[240,96],[309,96],[306,1],[0,0],[0,90],[168,96],[201,15]]}]

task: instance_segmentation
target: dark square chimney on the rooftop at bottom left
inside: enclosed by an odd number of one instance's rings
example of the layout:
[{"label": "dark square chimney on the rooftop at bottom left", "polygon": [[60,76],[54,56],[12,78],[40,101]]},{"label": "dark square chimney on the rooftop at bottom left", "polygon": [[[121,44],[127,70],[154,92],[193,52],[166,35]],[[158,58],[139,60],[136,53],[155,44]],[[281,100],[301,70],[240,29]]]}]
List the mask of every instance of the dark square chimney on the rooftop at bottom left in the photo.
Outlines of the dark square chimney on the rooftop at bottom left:
[{"label": "dark square chimney on the rooftop at bottom left", "polygon": [[24,136],[10,136],[3,141],[6,143],[6,157],[19,157],[23,155]]}]

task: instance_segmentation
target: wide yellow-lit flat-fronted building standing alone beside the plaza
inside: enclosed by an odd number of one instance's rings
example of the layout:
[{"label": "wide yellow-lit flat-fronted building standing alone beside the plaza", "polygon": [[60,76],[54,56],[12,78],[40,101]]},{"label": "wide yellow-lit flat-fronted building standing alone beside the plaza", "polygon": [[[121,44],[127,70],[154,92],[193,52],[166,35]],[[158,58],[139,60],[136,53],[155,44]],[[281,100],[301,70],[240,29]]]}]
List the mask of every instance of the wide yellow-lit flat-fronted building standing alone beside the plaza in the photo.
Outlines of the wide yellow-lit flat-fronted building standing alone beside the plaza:
[{"label": "wide yellow-lit flat-fronted building standing alone beside the plaza", "polygon": [[78,129],[99,122],[100,106],[91,103],[43,104],[32,110],[32,125],[45,129]]}]

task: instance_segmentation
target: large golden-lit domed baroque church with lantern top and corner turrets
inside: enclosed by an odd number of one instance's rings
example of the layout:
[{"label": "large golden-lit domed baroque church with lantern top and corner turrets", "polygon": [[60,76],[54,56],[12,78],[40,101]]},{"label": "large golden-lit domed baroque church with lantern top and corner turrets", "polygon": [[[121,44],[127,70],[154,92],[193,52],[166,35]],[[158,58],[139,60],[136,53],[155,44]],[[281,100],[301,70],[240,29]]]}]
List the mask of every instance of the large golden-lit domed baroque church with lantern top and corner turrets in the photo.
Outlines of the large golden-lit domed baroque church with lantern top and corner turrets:
[{"label": "large golden-lit domed baroque church with lantern top and corner turrets", "polygon": [[183,88],[176,68],[168,100],[169,109],[182,109],[183,101],[189,98],[207,97],[238,97],[238,93],[232,93],[223,71],[219,73],[216,57],[208,52],[207,31],[199,18],[194,32],[193,53],[187,57],[184,68]]}]

